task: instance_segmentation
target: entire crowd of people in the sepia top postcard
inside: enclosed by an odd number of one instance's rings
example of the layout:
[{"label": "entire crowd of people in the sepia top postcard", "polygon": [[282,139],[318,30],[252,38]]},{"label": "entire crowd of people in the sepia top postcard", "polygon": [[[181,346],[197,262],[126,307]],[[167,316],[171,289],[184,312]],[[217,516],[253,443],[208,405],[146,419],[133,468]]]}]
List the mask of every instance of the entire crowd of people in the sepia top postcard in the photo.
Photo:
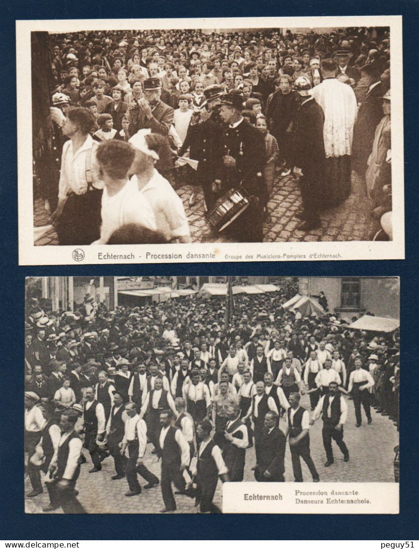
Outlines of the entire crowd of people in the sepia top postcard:
[{"label": "entire crowd of people in the sepia top postcard", "polygon": [[188,242],[179,180],[239,242],[263,240],[290,175],[301,231],[349,197],[353,170],[372,215],[392,209],[386,27],[75,32],[48,46],[53,162],[35,154],[35,170],[60,244]]}]

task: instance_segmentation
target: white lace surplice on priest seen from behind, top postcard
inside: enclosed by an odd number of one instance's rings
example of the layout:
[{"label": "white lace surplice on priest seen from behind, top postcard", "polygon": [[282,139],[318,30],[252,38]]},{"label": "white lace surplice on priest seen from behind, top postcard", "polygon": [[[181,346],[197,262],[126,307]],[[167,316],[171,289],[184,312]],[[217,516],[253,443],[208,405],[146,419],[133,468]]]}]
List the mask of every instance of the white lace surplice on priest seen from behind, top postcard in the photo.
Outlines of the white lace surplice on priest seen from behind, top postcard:
[{"label": "white lace surplice on priest seen from behind, top postcard", "polygon": [[324,150],[326,158],[350,155],[357,114],[353,89],[336,79],[327,79],[311,90],[324,113]]}]

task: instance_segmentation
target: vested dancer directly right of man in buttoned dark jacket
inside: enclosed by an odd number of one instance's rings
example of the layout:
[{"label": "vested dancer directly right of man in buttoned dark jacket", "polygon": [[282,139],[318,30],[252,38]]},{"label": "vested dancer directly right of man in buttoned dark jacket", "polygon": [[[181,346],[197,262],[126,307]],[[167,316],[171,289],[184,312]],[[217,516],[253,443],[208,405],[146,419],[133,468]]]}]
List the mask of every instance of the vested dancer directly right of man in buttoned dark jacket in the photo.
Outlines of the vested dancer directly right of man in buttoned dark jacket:
[{"label": "vested dancer directly right of man in buttoned dark jacket", "polygon": [[307,410],[300,406],[300,394],[290,394],[290,408],[286,414],[289,445],[295,482],[302,482],[300,456],[310,470],[313,482],[318,482],[316,466],[310,456],[310,417]]}]

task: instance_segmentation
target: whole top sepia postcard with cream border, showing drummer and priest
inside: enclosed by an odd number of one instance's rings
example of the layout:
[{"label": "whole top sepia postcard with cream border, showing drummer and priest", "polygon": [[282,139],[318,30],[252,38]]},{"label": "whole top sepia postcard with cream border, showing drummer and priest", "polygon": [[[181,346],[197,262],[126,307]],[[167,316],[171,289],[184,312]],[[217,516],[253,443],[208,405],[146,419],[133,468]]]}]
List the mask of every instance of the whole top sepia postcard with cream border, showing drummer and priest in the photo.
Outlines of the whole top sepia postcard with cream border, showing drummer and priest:
[{"label": "whole top sepia postcard with cream border, showing drummer and priest", "polygon": [[401,23],[17,21],[19,264],[404,259]]}]

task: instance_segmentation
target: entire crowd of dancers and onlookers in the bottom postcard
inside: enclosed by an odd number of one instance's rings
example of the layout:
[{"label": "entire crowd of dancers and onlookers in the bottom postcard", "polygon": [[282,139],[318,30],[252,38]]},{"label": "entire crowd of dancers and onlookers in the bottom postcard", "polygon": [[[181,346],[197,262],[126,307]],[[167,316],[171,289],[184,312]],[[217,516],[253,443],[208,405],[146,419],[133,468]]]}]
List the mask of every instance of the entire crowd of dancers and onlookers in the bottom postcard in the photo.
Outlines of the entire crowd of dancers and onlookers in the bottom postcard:
[{"label": "entire crowd of dancers and onlookers in the bottom postcard", "polygon": [[[252,446],[256,481],[284,481],[288,438],[295,481],[304,480],[302,458],[317,482],[310,427],[319,418],[324,467],[335,461],[332,440],[350,460],[352,404],[356,428],[363,413],[372,423],[371,406],[398,425],[398,332],[351,329],[327,311],[323,293],[323,316],[284,309],[295,293],[288,282],[272,294],[238,294],[230,322],[225,298],[199,295],[108,310],[90,289],[74,312],[61,313],[28,299],[27,497],[42,494],[43,472],[45,512],[85,512],[75,489],[80,467],[90,460],[89,473],[103,474],[111,456],[112,480],[126,479],[127,497],[160,485],[162,512],[172,512],[174,483],[175,495],[195,497],[200,512],[219,512],[218,480],[242,481]],[[311,410],[300,405],[305,394]],[[145,466],[146,452],[162,458],[161,478]]]}]

